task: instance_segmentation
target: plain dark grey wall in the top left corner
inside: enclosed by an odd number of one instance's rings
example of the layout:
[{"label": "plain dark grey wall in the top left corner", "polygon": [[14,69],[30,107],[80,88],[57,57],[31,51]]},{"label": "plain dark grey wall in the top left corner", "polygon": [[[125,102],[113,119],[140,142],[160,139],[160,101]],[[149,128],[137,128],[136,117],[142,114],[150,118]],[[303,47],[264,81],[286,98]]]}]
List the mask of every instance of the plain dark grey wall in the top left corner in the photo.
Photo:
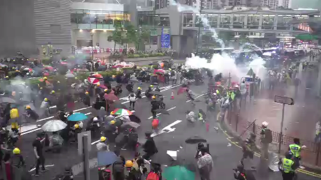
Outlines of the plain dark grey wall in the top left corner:
[{"label": "plain dark grey wall in the top left corner", "polygon": [[0,57],[37,54],[33,0],[1,0],[0,24]]}]

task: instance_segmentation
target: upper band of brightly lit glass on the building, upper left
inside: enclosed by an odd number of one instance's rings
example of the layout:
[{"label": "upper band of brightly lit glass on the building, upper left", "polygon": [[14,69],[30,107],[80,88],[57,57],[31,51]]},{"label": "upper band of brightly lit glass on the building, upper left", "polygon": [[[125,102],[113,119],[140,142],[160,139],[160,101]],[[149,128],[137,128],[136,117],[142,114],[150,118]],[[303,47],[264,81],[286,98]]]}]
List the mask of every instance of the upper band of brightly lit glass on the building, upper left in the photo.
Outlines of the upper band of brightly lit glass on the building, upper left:
[{"label": "upper band of brightly lit glass on the building, upper left", "polygon": [[71,23],[77,24],[77,29],[114,29],[115,22],[126,24],[130,14],[122,11],[106,10],[73,10]]}]

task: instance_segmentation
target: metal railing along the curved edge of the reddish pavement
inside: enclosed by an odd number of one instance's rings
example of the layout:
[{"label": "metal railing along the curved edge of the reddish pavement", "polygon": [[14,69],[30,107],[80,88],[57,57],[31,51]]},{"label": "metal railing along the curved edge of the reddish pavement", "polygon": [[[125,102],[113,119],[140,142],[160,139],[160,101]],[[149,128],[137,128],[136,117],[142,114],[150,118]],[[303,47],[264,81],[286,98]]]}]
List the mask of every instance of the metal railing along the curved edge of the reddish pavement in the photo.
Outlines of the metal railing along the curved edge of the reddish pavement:
[{"label": "metal railing along the curved edge of the reddish pavement", "polygon": [[[236,107],[236,106],[234,106]],[[242,116],[243,112],[239,110],[232,110],[229,108],[227,110],[227,123],[240,135],[242,139],[248,137],[248,133],[255,133],[257,137],[260,137],[260,132],[262,130],[261,126],[257,126],[255,121],[247,121],[244,116]],[[272,131],[273,142],[269,146],[270,151],[278,151],[278,144],[281,140],[281,153],[285,153],[288,151],[288,147],[290,144],[293,144],[294,137],[290,137],[288,135],[282,135]],[[302,149],[301,151],[301,160],[304,163],[308,163],[310,165],[316,165],[321,167],[321,143],[315,143],[308,140],[300,140],[302,145],[306,146],[306,149]],[[257,138],[257,144],[260,144],[260,138]]]}]

